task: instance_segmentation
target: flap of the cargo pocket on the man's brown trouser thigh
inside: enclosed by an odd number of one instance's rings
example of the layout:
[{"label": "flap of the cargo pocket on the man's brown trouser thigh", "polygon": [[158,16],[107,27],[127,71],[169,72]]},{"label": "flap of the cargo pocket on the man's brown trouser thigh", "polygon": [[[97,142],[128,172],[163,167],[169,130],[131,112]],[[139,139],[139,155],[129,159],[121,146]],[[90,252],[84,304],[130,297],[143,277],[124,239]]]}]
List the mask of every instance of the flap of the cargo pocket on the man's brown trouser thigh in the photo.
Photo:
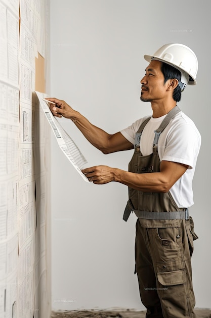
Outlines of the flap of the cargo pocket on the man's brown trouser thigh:
[{"label": "flap of the cargo pocket on the man's brown trouser thigh", "polygon": [[157,279],[163,286],[180,285],[185,282],[185,270],[157,273]]}]

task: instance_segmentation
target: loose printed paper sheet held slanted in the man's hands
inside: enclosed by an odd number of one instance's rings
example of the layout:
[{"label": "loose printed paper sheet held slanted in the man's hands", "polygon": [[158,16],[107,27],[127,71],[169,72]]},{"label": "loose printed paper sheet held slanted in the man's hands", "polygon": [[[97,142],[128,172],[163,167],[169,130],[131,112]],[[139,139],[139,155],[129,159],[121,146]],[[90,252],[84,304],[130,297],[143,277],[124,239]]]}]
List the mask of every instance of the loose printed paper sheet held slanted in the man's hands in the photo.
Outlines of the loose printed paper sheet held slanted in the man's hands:
[{"label": "loose printed paper sheet held slanted in the man's hands", "polygon": [[51,125],[60,149],[66,155],[69,162],[77,170],[83,180],[89,182],[87,177],[81,172],[81,169],[84,167],[85,164],[87,164],[86,158],[82,155],[72,138],[70,138],[70,136],[64,131],[59,121],[53,116],[52,112],[49,109],[48,103],[43,100],[43,98],[45,98],[44,94],[38,91],[36,91],[36,94],[41,108],[43,109],[46,118]]}]

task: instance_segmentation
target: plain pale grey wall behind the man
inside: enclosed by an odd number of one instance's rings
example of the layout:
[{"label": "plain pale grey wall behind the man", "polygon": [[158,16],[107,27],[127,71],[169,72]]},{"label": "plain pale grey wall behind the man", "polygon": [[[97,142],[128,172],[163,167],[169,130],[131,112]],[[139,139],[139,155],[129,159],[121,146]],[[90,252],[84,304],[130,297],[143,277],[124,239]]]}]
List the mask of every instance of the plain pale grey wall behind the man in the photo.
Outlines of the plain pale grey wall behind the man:
[{"label": "plain pale grey wall behind the man", "polygon": [[[51,96],[65,100],[94,124],[115,133],[151,114],[140,102],[147,62],[165,43],[190,46],[199,61],[197,86],[188,86],[179,106],[202,135],[193,182],[195,231],[193,282],[197,307],[210,305],[209,192],[206,157],[210,108],[208,2],[178,0],[51,0]],[[200,14],[200,18],[199,18]],[[208,58],[206,58],[208,57]],[[103,155],[70,120],[62,124],[88,160],[126,170],[132,151]],[[208,133],[208,134],[207,134]],[[128,189],[88,184],[52,139],[53,309],[143,308],[134,272],[135,221],[122,213]]]}]

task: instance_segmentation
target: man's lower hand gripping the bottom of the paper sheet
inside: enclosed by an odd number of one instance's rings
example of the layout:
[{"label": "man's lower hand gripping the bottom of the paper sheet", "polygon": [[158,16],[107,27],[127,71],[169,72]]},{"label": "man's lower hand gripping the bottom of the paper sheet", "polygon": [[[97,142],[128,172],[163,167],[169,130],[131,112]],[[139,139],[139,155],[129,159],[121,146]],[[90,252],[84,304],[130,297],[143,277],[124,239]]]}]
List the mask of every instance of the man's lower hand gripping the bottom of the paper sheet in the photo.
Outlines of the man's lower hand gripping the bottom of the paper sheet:
[{"label": "man's lower hand gripping the bottom of the paper sheet", "polygon": [[95,184],[105,184],[114,181],[114,170],[108,166],[95,166],[81,170],[89,181]]}]

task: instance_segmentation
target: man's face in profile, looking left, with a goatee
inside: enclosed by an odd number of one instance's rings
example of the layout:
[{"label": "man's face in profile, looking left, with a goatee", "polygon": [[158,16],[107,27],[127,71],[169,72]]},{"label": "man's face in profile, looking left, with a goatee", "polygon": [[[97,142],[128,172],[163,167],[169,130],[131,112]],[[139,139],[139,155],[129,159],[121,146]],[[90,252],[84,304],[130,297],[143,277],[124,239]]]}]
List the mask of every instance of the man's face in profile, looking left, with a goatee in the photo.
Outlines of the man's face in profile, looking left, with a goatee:
[{"label": "man's face in profile, looking left, with a goatee", "polygon": [[146,68],[146,74],[141,80],[141,101],[152,102],[166,97],[169,81],[164,84],[164,76],[160,67],[160,61],[152,60]]}]

